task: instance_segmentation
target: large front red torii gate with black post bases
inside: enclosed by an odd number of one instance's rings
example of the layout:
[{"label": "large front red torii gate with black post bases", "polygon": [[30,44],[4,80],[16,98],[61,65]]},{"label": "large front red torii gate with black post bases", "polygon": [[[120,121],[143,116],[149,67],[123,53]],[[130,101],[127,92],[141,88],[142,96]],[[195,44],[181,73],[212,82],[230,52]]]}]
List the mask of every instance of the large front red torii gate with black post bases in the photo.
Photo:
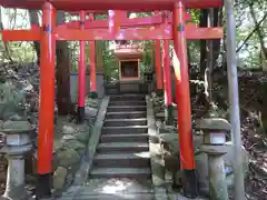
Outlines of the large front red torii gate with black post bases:
[{"label": "large front red torii gate with black post bases", "polygon": [[[187,39],[219,39],[221,28],[200,29],[186,26],[186,9],[221,7],[222,0],[0,0],[3,7],[42,9],[42,28],[31,30],[4,30],[4,41],[40,41],[40,110],[38,138],[38,186],[37,197],[50,194],[50,173],[53,143],[53,99],[55,99],[55,48],[56,40],[174,40],[174,68],[176,74],[176,98],[179,106],[179,141],[181,169],[185,173],[184,192],[195,197],[197,180],[195,172],[194,144],[191,134],[191,110],[187,62]],[[56,9],[66,11],[83,10],[172,10],[172,24],[162,24],[150,29],[118,29],[113,21],[112,29],[78,30],[56,26]],[[111,16],[111,14],[110,14]],[[168,79],[166,79],[168,80]]]}]

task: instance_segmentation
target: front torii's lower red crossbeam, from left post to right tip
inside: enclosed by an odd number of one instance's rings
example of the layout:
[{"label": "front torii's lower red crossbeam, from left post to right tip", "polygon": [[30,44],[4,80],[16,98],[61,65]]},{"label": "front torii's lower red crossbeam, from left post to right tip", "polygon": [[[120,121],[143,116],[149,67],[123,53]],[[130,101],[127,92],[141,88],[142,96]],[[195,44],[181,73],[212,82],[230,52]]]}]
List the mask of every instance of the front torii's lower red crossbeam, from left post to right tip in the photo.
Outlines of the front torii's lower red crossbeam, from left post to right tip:
[{"label": "front torii's lower red crossbeam, from left post to right tip", "polygon": [[[117,33],[117,40],[162,40],[172,39],[170,26],[162,26],[160,28],[150,29],[126,29]],[[58,40],[113,40],[108,30],[69,30],[57,29]],[[197,28],[192,24],[186,27],[186,37],[189,40],[199,39],[220,39],[222,38],[222,28]]]}]

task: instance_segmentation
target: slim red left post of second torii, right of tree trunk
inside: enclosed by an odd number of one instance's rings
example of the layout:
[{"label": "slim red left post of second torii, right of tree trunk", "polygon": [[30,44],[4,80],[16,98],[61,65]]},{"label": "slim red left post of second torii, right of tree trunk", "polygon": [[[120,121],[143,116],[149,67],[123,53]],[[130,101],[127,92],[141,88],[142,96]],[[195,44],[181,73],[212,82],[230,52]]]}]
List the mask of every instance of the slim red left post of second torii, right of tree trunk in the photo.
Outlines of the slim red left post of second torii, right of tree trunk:
[{"label": "slim red left post of second torii, right of tree trunk", "polygon": [[[80,21],[86,20],[86,12],[80,12]],[[80,26],[80,30],[85,30],[85,26]],[[80,41],[80,57],[78,69],[78,107],[85,107],[86,103],[86,42]]]}]

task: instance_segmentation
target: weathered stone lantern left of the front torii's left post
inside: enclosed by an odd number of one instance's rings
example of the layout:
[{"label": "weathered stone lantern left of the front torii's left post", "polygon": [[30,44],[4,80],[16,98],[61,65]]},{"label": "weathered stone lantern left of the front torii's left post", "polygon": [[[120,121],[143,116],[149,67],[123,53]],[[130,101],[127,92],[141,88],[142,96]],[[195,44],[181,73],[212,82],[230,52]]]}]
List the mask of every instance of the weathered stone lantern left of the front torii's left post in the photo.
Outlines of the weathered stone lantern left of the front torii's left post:
[{"label": "weathered stone lantern left of the front torii's left post", "polygon": [[8,159],[7,186],[2,199],[28,200],[24,190],[24,154],[32,148],[31,124],[28,121],[6,121],[0,128],[0,152]]}]

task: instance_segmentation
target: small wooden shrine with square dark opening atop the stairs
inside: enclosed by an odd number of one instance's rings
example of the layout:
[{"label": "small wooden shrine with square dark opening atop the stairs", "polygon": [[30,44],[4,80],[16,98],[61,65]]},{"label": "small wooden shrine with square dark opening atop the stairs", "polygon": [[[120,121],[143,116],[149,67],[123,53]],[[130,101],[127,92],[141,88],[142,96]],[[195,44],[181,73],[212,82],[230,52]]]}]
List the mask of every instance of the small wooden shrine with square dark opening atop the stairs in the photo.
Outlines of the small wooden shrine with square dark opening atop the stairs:
[{"label": "small wooden shrine with square dark opening atop the stairs", "polygon": [[138,44],[120,43],[116,46],[115,56],[119,60],[119,80],[121,82],[140,80],[142,48]]}]

